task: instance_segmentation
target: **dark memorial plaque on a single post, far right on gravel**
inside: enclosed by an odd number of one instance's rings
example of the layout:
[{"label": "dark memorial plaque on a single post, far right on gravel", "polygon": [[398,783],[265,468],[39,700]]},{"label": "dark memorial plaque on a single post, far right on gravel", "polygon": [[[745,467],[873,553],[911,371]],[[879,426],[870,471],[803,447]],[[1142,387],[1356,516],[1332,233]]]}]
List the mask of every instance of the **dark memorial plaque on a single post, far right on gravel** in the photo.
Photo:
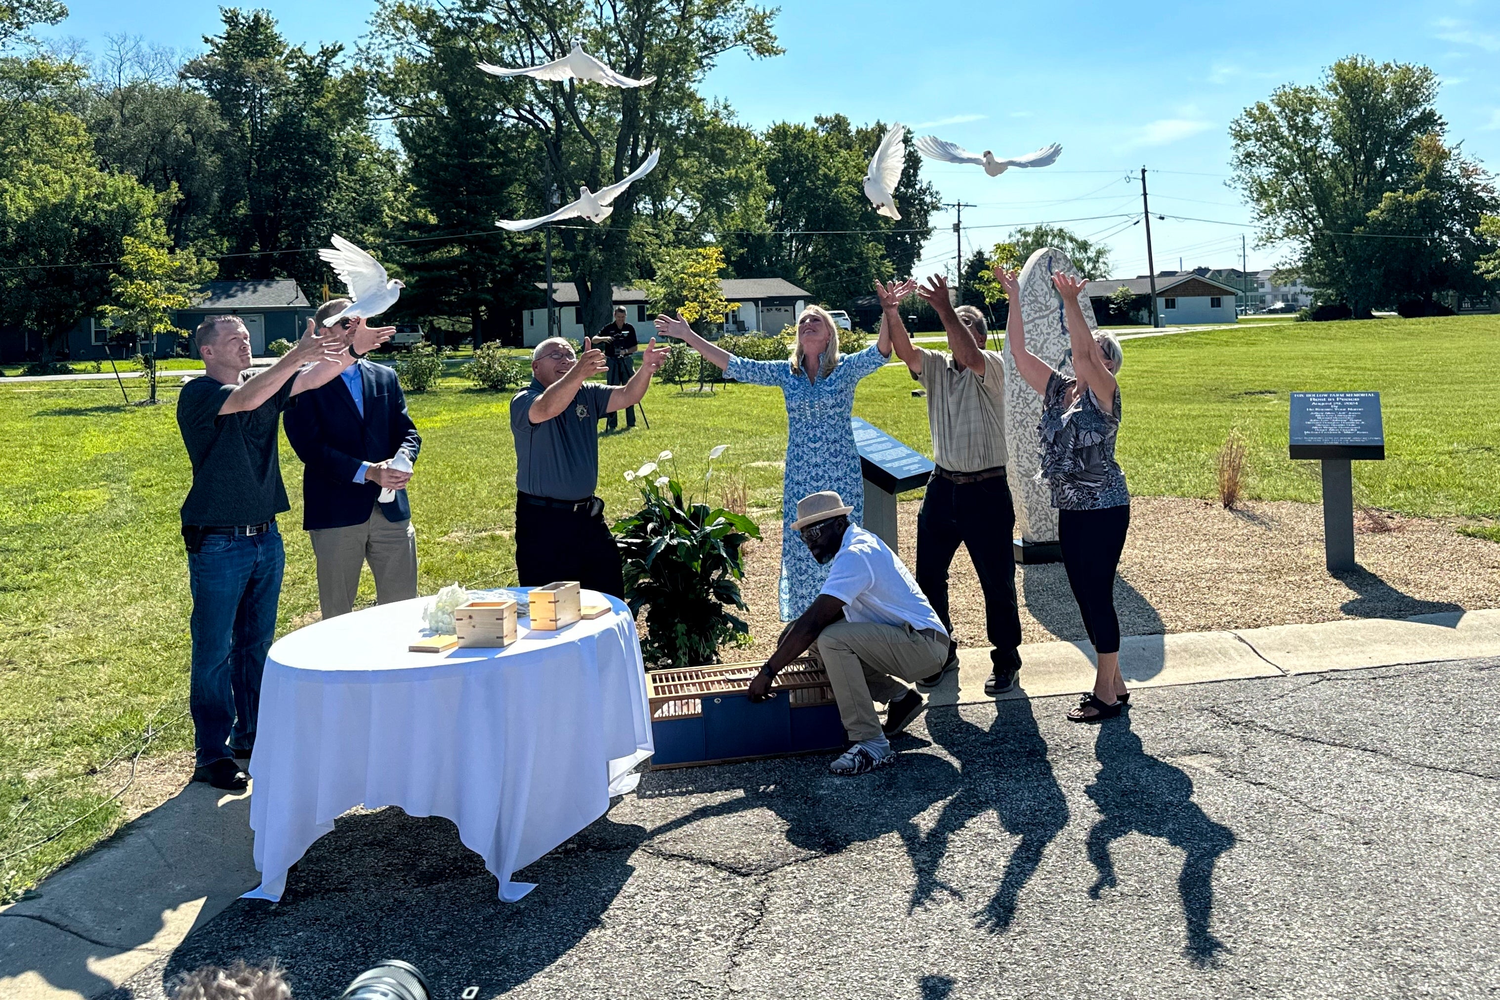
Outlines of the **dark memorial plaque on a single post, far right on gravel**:
[{"label": "dark memorial plaque on a single post, far right on gravel", "polygon": [[1323,553],[1332,571],[1354,568],[1352,460],[1386,457],[1380,393],[1292,393],[1293,459],[1323,463]]}]

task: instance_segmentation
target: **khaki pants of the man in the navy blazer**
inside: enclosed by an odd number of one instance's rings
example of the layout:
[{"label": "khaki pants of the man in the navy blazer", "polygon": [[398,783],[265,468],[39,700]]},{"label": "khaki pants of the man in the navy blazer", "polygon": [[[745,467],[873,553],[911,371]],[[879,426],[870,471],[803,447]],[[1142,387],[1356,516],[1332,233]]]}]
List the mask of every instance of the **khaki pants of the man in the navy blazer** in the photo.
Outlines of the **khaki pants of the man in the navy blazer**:
[{"label": "khaki pants of the man in the navy blazer", "polygon": [[318,606],[322,618],[354,610],[360,570],[369,559],[380,604],[417,597],[417,529],[411,520],[386,520],[380,507],[363,525],[320,528],[308,532],[318,558]]}]

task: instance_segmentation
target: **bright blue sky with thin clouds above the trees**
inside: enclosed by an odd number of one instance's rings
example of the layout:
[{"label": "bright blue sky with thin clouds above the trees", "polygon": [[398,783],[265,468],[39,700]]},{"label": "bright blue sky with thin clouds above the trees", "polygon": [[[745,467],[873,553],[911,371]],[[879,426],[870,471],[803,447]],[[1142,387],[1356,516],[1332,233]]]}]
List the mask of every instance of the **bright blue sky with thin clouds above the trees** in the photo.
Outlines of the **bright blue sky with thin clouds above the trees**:
[{"label": "bright blue sky with thin clouds above the trees", "polygon": [[[100,48],[128,33],[183,49],[218,30],[218,7],[188,0],[68,0],[72,16],[50,31]],[[252,4],[246,4],[252,6]],[[372,0],[268,0],[294,42],[364,33]],[[944,201],[963,199],[964,255],[1011,225],[1064,222],[1106,237],[1114,276],[1146,273],[1142,226],[1110,235],[1140,211],[1149,169],[1158,270],[1239,264],[1246,234],[1252,268],[1281,259],[1256,247],[1250,213],[1228,172],[1228,123],[1282,82],[1316,82],[1348,54],[1425,63],[1443,79],[1438,111],[1450,141],[1500,169],[1500,0],[1394,3],[1318,0],[1204,3],[888,3],[798,0],[777,16],[786,54],[720,60],[705,93],[754,126],[842,112],[856,123],[902,121],[975,151],[1018,154],[1062,142],[1054,166],[1008,171],[927,163]],[[952,213],[934,219],[922,268],[954,258]],[[974,228],[970,228],[974,226]]]}]

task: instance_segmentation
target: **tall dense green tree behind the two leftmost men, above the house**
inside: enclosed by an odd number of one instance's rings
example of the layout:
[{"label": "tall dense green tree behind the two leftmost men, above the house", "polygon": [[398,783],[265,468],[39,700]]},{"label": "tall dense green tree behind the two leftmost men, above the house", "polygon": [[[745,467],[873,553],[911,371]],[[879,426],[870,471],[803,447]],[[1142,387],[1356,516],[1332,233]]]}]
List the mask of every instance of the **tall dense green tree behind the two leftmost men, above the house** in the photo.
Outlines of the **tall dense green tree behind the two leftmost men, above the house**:
[{"label": "tall dense green tree behind the two leftmost men, above the house", "polygon": [[369,244],[398,210],[398,165],[369,130],[364,75],[340,45],[290,46],[264,10],[220,10],[224,33],[183,66],[226,126],[216,231],[226,277],[330,277],[312,250],[330,232]]}]

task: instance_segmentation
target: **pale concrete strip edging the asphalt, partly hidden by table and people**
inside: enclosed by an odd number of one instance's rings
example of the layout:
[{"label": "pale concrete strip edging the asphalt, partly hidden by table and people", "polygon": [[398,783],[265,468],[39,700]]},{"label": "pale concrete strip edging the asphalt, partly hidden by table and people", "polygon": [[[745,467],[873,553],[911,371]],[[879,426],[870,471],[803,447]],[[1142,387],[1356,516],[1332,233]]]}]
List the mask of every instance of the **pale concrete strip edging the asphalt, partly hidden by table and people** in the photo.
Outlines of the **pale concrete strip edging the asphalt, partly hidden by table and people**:
[{"label": "pale concrete strip edging the asphalt, partly hidden by table and people", "polygon": [[[993,705],[984,697],[987,652],[963,651],[957,676],[928,705]],[[1500,610],[1134,636],[1120,654],[1132,687],[1474,660],[1500,655]],[[1076,694],[1094,684],[1080,643],[1032,643],[1022,657],[1020,690],[1002,702]],[[951,712],[933,714],[945,715]],[[717,771],[694,774],[708,780]],[[99,997],[162,964],[190,931],[260,882],[248,807],[248,796],[218,798],[207,786],[189,786],[0,910],[0,997]]]}]

